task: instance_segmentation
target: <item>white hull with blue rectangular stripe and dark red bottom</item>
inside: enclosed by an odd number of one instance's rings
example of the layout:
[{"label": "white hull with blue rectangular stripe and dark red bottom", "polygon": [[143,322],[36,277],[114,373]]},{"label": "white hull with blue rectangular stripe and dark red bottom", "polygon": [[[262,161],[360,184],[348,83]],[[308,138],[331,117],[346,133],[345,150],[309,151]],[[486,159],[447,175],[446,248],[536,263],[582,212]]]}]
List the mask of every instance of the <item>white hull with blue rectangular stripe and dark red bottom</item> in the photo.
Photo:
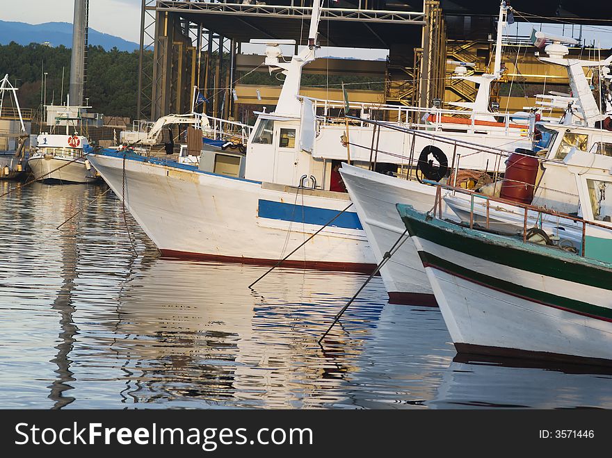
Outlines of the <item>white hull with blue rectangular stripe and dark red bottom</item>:
[{"label": "white hull with blue rectangular stripe and dark red bottom", "polygon": [[[88,159],[168,257],[273,265],[351,204],[346,193],[227,177],[142,156]],[[350,208],[282,265],[371,272],[373,263]]]}]

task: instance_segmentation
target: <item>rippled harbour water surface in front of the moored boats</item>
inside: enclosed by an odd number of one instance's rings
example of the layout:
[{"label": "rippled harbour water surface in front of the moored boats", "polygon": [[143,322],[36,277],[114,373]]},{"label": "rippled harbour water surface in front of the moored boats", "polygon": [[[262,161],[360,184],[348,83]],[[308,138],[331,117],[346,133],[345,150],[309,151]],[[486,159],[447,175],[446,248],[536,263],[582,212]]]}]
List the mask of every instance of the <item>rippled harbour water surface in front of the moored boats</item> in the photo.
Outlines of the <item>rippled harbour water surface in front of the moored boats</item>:
[{"label": "rippled harbour water surface in front of the moored boats", "polygon": [[[15,186],[0,182],[0,193]],[[440,312],[364,275],[159,259],[106,190],[0,198],[0,407],[612,407],[611,376],[460,362]],[[453,358],[455,361],[453,361]]]}]

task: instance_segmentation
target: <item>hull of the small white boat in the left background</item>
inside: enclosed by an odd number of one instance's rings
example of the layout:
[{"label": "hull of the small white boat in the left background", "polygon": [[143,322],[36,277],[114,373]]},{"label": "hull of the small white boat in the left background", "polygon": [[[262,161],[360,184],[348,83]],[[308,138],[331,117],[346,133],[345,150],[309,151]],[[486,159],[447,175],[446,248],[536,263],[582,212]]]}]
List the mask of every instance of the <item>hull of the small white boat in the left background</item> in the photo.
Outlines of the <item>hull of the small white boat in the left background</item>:
[{"label": "hull of the small white boat in the left background", "polygon": [[39,181],[61,181],[62,183],[94,183],[97,181],[93,167],[87,170],[85,158],[74,161],[74,157],[34,155],[28,165]]}]

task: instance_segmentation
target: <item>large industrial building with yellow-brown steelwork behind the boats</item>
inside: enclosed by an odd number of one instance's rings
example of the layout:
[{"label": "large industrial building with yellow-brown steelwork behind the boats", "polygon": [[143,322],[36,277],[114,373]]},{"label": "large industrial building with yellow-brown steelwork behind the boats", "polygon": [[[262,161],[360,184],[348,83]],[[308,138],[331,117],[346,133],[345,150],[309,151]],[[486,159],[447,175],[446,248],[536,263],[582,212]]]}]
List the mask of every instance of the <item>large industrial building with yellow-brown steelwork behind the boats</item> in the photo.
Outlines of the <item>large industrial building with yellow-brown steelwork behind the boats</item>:
[{"label": "large industrial building with yellow-brown steelwork behind the boats", "polygon": [[[570,23],[605,25],[604,19],[597,18],[610,17],[611,12],[603,10],[612,8],[598,5],[595,9],[567,0],[508,3],[521,12],[515,15],[517,22],[567,24],[567,35],[576,38],[581,38],[581,28],[572,25],[570,29]],[[245,120],[245,112],[252,112],[251,108],[273,108],[280,92],[278,84],[243,81],[250,72],[268,72],[261,65],[264,56],[243,54],[243,43],[292,39],[303,44],[310,8],[312,2],[303,0],[143,0],[138,117],[154,120],[168,113],[185,113],[191,111],[195,99],[201,101],[198,111],[239,120]],[[496,0],[330,0],[321,15],[321,46],[387,49],[388,58],[320,58],[305,68],[305,74],[362,76],[362,81],[379,82],[373,89],[348,85],[354,101],[410,106],[431,106],[437,99],[473,101],[474,85],[450,79],[455,65],[446,62],[474,63],[469,72],[485,72],[492,56],[498,11]],[[533,106],[533,95],[547,88],[567,92],[563,69],[540,63],[528,37],[507,36],[504,41],[508,44],[504,50],[506,73],[492,88],[501,109]],[[582,41],[570,52],[595,58],[608,51],[586,47]],[[341,99],[337,84],[314,86],[303,85],[303,93]],[[194,87],[200,88],[200,95]]]}]

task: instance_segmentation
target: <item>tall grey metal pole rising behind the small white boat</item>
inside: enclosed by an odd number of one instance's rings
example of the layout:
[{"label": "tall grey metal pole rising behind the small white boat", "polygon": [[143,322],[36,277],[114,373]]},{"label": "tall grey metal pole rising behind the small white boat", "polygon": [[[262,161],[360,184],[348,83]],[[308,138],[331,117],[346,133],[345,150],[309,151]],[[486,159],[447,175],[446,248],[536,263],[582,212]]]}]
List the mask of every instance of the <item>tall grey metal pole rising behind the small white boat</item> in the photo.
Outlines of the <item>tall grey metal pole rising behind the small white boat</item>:
[{"label": "tall grey metal pole rising behind the small white boat", "polygon": [[89,29],[89,0],[74,0],[72,60],[70,62],[70,105],[82,106],[85,97]]}]

